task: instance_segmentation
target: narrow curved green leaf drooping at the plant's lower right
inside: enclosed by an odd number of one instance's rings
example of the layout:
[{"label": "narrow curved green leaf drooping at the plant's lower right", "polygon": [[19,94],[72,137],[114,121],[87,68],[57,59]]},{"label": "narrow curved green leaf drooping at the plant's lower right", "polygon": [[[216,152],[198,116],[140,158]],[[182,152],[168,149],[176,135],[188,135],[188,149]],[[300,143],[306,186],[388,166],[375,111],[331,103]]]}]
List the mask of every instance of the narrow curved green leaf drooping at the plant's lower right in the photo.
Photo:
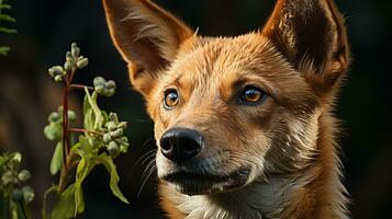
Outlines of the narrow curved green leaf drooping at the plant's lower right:
[{"label": "narrow curved green leaf drooping at the plant's lower right", "polygon": [[99,163],[103,164],[107,171],[110,173],[110,188],[112,189],[113,195],[115,195],[120,200],[130,204],[130,201],[124,197],[124,195],[120,191],[119,187],[120,177],[115,164],[113,162],[113,159],[110,155],[102,153],[97,158],[97,160]]}]

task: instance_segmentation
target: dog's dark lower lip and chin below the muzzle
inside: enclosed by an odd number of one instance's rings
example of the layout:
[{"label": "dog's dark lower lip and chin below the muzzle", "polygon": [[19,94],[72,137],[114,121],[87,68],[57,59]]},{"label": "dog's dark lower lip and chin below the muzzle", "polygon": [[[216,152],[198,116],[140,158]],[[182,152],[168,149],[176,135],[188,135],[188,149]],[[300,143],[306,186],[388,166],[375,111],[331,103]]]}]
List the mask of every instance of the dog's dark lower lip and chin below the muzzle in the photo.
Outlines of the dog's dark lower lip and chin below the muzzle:
[{"label": "dog's dark lower lip and chin below the muzzle", "polygon": [[240,168],[226,175],[176,171],[161,178],[178,192],[187,195],[226,193],[244,187],[250,175],[250,168]]}]

